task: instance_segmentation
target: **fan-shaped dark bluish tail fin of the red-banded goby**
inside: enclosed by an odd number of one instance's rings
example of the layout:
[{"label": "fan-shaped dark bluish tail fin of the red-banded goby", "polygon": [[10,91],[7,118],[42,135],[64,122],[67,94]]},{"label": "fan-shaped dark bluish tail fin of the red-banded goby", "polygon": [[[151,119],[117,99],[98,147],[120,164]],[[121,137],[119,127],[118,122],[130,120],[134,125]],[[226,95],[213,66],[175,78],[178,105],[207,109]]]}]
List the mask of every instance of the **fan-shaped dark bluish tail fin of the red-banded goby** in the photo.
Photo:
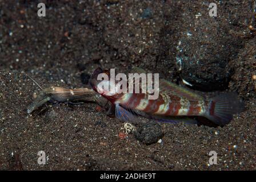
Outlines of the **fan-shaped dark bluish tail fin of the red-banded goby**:
[{"label": "fan-shaped dark bluish tail fin of the red-banded goby", "polygon": [[243,105],[237,93],[224,93],[210,99],[209,110],[205,117],[218,125],[227,125],[234,114],[243,110]]}]

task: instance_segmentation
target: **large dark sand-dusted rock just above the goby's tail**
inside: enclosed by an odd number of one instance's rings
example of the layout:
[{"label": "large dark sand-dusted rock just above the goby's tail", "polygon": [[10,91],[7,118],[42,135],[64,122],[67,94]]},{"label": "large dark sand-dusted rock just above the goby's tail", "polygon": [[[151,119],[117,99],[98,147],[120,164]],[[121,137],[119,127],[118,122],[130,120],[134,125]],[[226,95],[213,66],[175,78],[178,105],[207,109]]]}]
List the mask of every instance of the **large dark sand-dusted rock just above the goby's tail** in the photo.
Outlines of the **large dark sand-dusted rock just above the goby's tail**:
[{"label": "large dark sand-dusted rock just above the goby's tail", "polygon": [[198,31],[191,36],[184,35],[179,41],[176,61],[181,78],[195,89],[225,89],[232,75],[229,59],[237,55],[239,41],[218,31]]}]

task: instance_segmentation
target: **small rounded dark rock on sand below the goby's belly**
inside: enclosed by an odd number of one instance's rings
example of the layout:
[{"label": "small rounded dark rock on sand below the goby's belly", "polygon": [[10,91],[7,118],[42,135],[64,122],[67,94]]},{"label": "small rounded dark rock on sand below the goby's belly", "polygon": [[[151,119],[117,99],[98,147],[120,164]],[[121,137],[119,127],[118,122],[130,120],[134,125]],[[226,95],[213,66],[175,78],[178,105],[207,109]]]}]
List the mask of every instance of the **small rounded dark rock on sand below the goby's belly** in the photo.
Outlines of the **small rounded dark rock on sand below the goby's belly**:
[{"label": "small rounded dark rock on sand below the goby's belly", "polygon": [[134,136],[142,143],[152,144],[163,137],[163,131],[159,123],[150,121],[139,126]]}]

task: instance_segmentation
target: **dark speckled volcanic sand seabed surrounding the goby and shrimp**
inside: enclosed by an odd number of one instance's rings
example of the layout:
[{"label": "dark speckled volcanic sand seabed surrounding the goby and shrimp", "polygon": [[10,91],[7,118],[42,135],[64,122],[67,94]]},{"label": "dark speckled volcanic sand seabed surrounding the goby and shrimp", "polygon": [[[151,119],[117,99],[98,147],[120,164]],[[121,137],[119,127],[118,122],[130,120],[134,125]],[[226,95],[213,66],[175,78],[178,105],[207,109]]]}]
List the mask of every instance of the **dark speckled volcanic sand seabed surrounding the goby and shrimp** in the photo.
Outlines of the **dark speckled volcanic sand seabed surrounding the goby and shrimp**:
[{"label": "dark speckled volcanic sand seabed surrounding the goby and shrimp", "polygon": [[[0,169],[255,170],[255,1],[217,5],[219,16],[210,18],[201,1],[61,1],[46,3],[39,18],[37,2],[1,1]],[[237,91],[245,111],[224,127],[142,119],[141,135],[125,139],[123,123],[96,104],[26,113],[40,89],[22,71],[43,88],[79,88],[97,67],[131,65],[201,91]],[[210,151],[217,165],[208,164]]]}]

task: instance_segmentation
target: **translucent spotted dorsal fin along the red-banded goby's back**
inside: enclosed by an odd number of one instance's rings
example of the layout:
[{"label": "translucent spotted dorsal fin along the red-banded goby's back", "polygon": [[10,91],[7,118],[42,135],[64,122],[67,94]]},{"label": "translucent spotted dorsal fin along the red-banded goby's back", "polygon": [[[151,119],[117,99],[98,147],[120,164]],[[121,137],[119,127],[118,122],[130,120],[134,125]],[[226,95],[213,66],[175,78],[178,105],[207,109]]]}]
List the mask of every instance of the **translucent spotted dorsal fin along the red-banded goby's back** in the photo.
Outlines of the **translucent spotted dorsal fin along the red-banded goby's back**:
[{"label": "translucent spotted dorsal fin along the red-banded goby's back", "polygon": [[[131,70],[131,73],[147,73],[144,69],[134,67]],[[179,86],[165,79],[159,79],[159,93],[165,93],[167,95],[174,95],[179,97],[185,97],[190,101],[198,101],[203,100],[204,98],[189,89],[184,88],[183,86]]]}]

